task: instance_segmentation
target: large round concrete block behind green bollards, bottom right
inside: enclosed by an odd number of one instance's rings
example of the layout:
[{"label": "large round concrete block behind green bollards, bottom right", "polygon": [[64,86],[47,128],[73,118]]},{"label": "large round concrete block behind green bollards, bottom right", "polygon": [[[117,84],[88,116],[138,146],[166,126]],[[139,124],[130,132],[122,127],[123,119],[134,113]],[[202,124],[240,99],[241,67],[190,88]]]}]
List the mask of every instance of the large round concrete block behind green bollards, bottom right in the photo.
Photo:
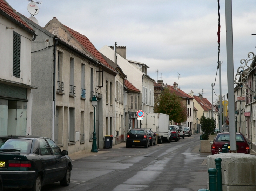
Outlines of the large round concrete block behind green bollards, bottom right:
[{"label": "large round concrete block behind green bollards, bottom right", "polygon": [[221,174],[223,191],[256,190],[256,156],[243,153],[209,155],[207,156],[208,169],[215,168],[215,158],[222,159]]}]

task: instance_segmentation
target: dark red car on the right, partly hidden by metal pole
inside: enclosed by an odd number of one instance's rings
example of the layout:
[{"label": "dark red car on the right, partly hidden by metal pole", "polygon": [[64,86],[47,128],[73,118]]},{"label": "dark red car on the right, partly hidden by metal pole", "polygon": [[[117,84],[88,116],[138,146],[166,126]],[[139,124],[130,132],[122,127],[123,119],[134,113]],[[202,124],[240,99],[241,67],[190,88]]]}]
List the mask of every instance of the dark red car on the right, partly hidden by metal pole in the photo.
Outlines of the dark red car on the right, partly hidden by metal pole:
[{"label": "dark red car on the right, partly hidden by metal pole", "polygon": [[[210,142],[212,144],[211,154],[212,155],[218,154],[220,151],[222,151],[221,149],[224,148],[223,146],[225,145],[225,143],[229,144],[229,138],[230,138],[229,132],[218,133],[214,141]],[[236,133],[237,153],[250,154],[250,147],[249,147],[250,144],[251,142],[247,142],[244,135],[240,133]]]}]

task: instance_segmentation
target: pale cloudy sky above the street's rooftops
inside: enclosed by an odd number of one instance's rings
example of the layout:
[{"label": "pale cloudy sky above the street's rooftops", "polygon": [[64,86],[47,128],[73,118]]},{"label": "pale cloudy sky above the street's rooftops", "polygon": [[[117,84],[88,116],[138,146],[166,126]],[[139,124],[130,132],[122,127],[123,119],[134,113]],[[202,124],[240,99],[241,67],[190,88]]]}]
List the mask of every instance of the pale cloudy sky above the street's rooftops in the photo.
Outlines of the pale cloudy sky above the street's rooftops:
[{"label": "pale cloudy sky above the street's rooftops", "polygon": [[[31,16],[30,1],[7,2]],[[219,96],[217,0],[43,0],[38,5],[35,17],[41,27],[56,17],[87,36],[98,50],[115,42],[126,46],[127,59],[147,64],[147,74],[156,81],[177,82],[182,91],[203,94],[210,102],[211,83],[215,83]],[[256,33],[255,8],[255,0],[232,2],[234,77],[240,60],[255,52],[256,36],[251,35]],[[223,96],[228,93],[224,0],[220,0],[220,25]]]}]

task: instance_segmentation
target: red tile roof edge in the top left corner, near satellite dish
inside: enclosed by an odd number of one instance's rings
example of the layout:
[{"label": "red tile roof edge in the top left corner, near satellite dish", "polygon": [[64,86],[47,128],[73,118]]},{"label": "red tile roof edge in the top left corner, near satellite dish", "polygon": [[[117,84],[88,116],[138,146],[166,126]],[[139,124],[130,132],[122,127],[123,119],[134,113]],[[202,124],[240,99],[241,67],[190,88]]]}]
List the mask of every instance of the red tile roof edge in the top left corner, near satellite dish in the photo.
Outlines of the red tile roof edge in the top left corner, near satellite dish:
[{"label": "red tile roof edge in the top left corner, near satellite dish", "polygon": [[24,25],[29,30],[33,31],[33,29],[29,27],[29,25],[25,21],[23,21],[15,11],[13,11],[13,8],[9,6],[9,4],[5,0],[0,0],[0,9],[7,15],[11,16],[13,19]]}]

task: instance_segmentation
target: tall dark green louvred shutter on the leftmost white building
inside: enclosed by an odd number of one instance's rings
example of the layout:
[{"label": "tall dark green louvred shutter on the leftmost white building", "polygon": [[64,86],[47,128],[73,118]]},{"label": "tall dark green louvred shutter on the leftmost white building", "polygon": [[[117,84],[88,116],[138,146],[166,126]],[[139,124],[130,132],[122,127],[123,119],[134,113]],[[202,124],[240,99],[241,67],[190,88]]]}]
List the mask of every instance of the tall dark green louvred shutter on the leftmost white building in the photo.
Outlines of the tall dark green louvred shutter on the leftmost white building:
[{"label": "tall dark green louvred shutter on the leftmost white building", "polygon": [[20,35],[13,31],[13,76],[20,78]]}]

